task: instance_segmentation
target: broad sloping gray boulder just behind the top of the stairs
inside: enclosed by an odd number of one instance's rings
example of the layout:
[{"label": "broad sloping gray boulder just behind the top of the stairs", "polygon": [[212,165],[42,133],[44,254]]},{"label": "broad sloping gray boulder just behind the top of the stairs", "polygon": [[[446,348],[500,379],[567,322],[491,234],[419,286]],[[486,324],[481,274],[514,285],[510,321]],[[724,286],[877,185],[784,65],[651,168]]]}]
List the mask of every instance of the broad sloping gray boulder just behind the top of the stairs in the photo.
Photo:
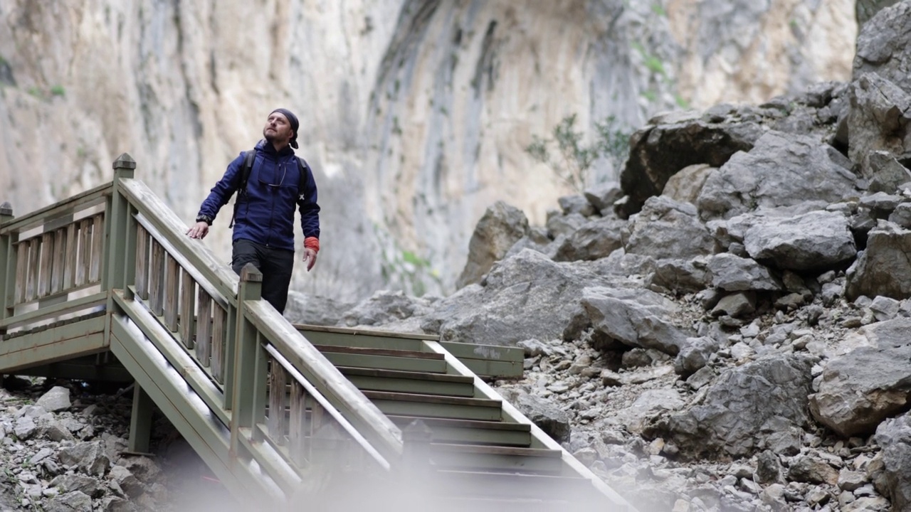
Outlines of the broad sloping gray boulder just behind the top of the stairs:
[{"label": "broad sloping gray boulder just behind the top of the stairs", "polygon": [[497,262],[480,284],[437,302],[421,328],[444,340],[466,343],[511,345],[558,338],[577,311],[582,290],[624,282],[581,263],[560,263],[523,249]]}]

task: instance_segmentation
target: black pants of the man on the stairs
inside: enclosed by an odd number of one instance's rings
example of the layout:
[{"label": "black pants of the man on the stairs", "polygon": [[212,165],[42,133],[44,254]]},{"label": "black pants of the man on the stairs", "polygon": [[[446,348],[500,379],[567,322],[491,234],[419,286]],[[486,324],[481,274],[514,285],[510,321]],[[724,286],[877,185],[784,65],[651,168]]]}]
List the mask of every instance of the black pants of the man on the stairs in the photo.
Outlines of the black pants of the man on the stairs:
[{"label": "black pants of the man on the stairs", "polygon": [[249,240],[234,241],[230,266],[241,275],[247,263],[262,272],[262,298],[283,313],[294,270],[294,251],[274,249]]}]

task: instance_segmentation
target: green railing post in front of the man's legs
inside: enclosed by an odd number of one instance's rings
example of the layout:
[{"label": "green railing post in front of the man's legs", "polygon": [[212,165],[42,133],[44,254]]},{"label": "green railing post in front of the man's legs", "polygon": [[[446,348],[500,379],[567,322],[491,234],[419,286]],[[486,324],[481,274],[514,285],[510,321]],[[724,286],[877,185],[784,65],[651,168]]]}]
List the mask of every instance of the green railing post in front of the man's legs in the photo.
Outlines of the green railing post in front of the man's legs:
[{"label": "green railing post in front of the man's legs", "polygon": [[241,456],[240,429],[256,425],[256,415],[265,411],[266,358],[257,339],[257,330],[244,318],[245,302],[262,296],[262,273],[247,263],[241,269],[237,291],[237,326],[234,329],[234,372],[230,404],[230,451],[232,458]]}]

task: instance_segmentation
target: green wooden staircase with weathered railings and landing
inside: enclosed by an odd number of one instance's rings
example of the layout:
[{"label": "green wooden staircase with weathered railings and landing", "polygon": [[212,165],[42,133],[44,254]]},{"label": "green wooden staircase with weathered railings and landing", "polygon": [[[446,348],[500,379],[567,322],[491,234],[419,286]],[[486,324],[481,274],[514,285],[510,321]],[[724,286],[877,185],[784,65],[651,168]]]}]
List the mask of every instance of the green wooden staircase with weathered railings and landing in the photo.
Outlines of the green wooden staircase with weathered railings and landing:
[{"label": "green wooden staircase with weathered railings and landing", "polygon": [[157,407],[256,509],[343,510],[317,506],[326,489],[373,488],[433,500],[417,510],[635,512],[486,384],[521,374],[520,349],[292,325],[135,168],[0,206],[0,376],[132,381],[129,451],[148,452]]}]

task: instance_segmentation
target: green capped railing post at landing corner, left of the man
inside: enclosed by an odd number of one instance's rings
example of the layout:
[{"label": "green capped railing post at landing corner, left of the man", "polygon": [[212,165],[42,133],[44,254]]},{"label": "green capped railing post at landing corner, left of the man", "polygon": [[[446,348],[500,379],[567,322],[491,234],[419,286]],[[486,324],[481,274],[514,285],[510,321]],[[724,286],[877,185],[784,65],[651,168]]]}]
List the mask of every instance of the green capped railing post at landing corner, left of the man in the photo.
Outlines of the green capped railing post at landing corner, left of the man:
[{"label": "green capped railing post at landing corner, left of the man", "polygon": [[[110,291],[118,288],[125,291],[133,284],[136,276],[136,222],[130,222],[129,201],[120,189],[122,179],[132,179],[136,160],[124,153],[114,160],[114,183],[111,197],[107,200],[105,213],[105,261],[101,288]],[[129,243],[132,241],[132,244]],[[130,258],[132,254],[132,258]]]}]

